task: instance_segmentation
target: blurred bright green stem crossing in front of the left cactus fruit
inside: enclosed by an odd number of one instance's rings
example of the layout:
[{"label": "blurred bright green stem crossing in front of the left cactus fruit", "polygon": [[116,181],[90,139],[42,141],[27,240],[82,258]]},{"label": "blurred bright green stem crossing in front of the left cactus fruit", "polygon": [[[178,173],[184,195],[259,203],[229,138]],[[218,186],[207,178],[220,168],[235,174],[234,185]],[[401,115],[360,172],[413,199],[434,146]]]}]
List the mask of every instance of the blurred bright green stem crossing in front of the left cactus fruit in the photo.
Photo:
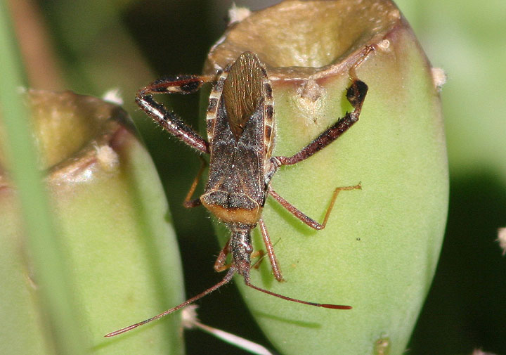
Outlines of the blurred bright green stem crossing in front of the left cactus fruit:
[{"label": "blurred bright green stem crossing in front of the left cactus fruit", "polygon": [[75,321],[70,277],[65,272],[58,233],[37,169],[29,112],[18,93],[23,83],[22,60],[14,38],[8,6],[0,2],[0,113],[7,137],[4,148],[18,189],[27,247],[44,309],[43,326],[56,354],[84,354],[86,342]]}]

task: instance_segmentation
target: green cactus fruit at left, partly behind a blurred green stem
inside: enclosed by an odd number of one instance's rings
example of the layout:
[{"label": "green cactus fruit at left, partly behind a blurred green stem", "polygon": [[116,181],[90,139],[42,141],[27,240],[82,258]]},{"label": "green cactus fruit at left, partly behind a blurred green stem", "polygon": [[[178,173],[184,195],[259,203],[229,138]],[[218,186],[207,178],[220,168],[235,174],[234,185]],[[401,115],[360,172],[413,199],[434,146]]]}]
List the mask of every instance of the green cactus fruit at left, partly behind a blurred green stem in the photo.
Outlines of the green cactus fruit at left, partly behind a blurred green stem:
[{"label": "green cactus fruit at left, partly behind a blurred green stem", "polygon": [[[70,274],[70,284],[62,287],[74,296],[74,321],[88,345],[84,353],[183,354],[176,315],[156,327],[103,337],[184,298],[164,191],[126,112],[70,92],[28,91],[27,101],[63,249],[60,262]],[[0,344],[10,355],[55,354],[58,340],[47,331],[47,309],[39,302],[46,275],[32,264],[25,217],[6,171],[0,176],[0,318],[5,325]],[[36,252],[44,259],[43,250]]]}]

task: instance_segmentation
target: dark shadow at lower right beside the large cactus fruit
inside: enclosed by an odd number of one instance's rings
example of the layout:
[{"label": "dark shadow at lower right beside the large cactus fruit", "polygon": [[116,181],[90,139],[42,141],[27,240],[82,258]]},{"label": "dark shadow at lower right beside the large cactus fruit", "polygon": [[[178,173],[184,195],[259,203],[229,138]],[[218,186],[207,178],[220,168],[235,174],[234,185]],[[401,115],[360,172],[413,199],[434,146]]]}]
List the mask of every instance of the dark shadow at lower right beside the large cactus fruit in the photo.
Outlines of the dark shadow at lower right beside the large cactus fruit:
[{"label": "dark shadow at lower right beside the large cactus fruit", "polygon": [[493,174],[450,183],[446,238],[409,354],[506,354],[506,258],[496,241],[506,224],[506,186]]}]

